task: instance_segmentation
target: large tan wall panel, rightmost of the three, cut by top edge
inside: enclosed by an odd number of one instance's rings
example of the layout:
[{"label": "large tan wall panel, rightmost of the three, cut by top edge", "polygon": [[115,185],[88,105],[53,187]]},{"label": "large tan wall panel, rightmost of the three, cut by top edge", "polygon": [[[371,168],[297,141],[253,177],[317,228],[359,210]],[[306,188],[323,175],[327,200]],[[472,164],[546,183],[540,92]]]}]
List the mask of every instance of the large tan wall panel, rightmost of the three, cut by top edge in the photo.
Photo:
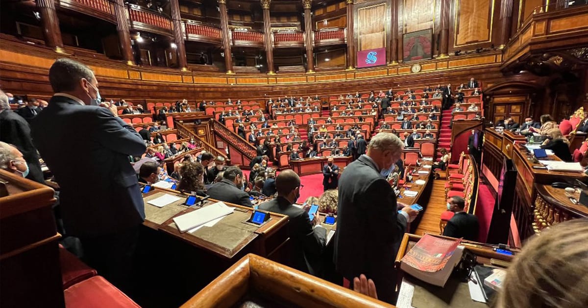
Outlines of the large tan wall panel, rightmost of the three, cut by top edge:
[{"label": "large tan wall panel, rightmost of the three, cut by top edge", "polygon": [[455,0],[454,46],[492,39],[494,0]]}]

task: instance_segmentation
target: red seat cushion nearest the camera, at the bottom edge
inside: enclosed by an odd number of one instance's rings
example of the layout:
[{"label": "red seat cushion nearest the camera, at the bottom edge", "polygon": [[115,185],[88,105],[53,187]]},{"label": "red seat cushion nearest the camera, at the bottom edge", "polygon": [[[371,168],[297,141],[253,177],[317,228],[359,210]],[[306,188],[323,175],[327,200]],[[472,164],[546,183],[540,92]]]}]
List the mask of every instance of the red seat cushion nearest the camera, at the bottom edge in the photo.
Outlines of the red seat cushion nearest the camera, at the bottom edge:
[{"label": "red seat cushion nearest the camera, at the bottom edge", "polygon": [[129,308],[140,306],[102,276],[93,276],[65,289],[68,308]]}]

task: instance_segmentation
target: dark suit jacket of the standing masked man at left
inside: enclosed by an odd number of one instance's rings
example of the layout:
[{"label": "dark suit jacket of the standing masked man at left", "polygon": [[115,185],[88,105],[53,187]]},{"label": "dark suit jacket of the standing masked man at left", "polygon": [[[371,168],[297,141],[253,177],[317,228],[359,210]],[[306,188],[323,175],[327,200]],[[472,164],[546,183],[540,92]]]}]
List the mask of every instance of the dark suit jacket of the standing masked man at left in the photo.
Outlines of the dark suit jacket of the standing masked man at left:
[{"label": "dark suit jacket of the standing masked man at left", "polygon": [[[68,233],[105,235],[143,222],[143,198],[128,160],[146,150],[135,128],[103,107],[54,96],[33,121],[32,137],[61,186]],[[72,161],[72,155],[83,159]]]}]

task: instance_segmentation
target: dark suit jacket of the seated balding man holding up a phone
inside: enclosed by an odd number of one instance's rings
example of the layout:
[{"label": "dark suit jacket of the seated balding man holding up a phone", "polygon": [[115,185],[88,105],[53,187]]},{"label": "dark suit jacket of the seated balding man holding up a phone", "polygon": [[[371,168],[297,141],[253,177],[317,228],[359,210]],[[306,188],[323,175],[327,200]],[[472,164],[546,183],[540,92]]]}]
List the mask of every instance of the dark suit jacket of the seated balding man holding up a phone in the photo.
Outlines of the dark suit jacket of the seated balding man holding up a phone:
[{"label": "dark suit jacket of the seated balding man holding up a phone", "polygon": [[293,251],[290,258],[292,267],[305,273],[315,275],[319,267],[320,255],[325,248],[326,229],[313,228],[308,213],[303,209],[294,207],[290,201],[283,197],[277,197],[259,205],[263,211],[288,215],[288,233],[293,243]]}]

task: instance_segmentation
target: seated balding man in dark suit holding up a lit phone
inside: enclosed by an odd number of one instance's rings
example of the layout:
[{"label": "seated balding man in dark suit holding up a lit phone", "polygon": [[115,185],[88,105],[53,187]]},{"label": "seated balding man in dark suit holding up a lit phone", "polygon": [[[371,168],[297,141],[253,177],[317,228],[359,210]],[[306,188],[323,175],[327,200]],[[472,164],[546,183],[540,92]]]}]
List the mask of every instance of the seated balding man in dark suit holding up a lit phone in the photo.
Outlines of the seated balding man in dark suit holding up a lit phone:
[{"label": "seated balding man in dark suit holding up a lit phone", "polygon": [[292,170],[283,170],[276,178],[278,197],[263,202],[259,209],[288,215],[288,230],[293,250],[290,265],[311,275],[318,275],[323,249],[326,244],[326,229],[320,225],[318,214],[311,220],[307,208],[292,204],[300,197],[300,178]]}]

